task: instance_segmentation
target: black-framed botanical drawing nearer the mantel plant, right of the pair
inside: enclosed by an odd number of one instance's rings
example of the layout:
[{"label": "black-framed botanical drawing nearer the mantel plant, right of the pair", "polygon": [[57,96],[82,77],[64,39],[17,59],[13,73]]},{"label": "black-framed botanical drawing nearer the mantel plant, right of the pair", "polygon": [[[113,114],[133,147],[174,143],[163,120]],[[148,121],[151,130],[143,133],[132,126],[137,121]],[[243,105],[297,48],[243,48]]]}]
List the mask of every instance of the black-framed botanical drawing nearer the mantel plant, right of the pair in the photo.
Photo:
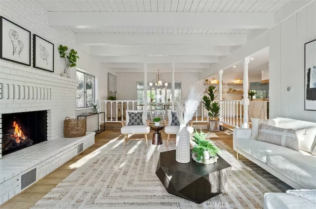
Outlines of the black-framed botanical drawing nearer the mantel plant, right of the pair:
[{"label": "black-framed botanical drawing nearer the mantel plant, right of the pair", "polygon": [[33,67],[54,72],[54,44],[33,34]]}]

